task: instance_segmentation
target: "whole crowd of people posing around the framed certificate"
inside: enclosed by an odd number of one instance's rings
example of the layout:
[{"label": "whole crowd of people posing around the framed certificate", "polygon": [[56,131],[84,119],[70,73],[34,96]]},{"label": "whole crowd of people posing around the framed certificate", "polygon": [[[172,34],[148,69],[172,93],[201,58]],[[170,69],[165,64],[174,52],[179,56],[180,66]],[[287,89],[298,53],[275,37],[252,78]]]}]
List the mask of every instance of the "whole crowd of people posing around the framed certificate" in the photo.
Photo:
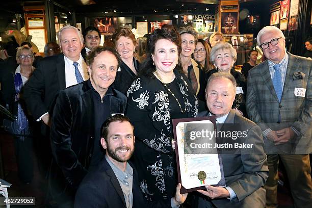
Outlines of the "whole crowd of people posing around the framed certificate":
[{"label": "whole crowd of people posing around the framed certificate", "polygon": [[[295,207],[312,206],[312,61],[287,52],[278,28],[258,33],[266,60],[256,65],[250,50],[242,72],[222,33],[205,41],[191,25],[164,24],[137,40],[120,28],[105,46],[93,26],[67,25],[58,37],[36,65],[29,44],[8,48],[15,65],[0,63],[19,177],[31,183],[40,135],[58,207],[277,207],[279,161]],[[203,116],[238,124],[253,149],[221,154],[226,187],[180,194],[172,119]]]}]

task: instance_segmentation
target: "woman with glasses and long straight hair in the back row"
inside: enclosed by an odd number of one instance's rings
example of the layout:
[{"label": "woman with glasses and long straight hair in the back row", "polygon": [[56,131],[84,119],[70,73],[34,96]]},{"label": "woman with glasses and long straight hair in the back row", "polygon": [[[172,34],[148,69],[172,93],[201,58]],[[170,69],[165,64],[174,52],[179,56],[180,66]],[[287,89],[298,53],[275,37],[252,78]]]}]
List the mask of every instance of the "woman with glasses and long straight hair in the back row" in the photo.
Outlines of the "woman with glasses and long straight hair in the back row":
[{"label": "woman with glasses and long straight hair in the back row", "polygon": [[214,68],[214,65],[209,60],[210,51],[210,45],[203,39],[198,39],[193,57],[195,61],[201,63],[204,66],[203,69],[205,73]]}]

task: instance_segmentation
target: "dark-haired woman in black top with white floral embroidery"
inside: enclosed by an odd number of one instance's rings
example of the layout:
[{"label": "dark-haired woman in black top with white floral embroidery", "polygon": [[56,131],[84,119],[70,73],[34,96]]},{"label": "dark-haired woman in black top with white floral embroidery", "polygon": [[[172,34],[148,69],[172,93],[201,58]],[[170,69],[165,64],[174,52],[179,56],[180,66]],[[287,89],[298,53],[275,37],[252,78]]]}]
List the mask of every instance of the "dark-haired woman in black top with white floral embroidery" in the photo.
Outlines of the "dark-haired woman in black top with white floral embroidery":
[{"label": "dark-haired woman in black top with white floral embroidery", "polygon": [[197,117],[198,101],[179,70],[181,39],[173,25],[150,36],[142,71],[127,91],[126,115],[135,126],[134,163],[140,188],[148,200],[174,196],[176,160],[172,119]]}]

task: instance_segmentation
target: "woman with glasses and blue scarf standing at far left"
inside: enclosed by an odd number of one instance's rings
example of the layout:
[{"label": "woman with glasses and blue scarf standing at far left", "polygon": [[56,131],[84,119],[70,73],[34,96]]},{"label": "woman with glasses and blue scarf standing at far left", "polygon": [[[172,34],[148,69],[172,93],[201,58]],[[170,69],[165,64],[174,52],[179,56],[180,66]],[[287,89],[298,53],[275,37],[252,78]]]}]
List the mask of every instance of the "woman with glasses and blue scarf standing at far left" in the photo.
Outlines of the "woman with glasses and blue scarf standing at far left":
[{"label": "woman with glasses and blue scarf standing at far left", "polygon": [[[14,146],[17,160],[18,176],[23,183],[33,179],[33,139],[31,136],[31,118],[23,100],[23,87],[33,74],[33,50],[28,46],[17,49],[16,61],[19,64],[15,73],[10,72],[3,83],[4,101],[9,111],[15,115]],[[18,135],[18,136],[17,136]]]}]

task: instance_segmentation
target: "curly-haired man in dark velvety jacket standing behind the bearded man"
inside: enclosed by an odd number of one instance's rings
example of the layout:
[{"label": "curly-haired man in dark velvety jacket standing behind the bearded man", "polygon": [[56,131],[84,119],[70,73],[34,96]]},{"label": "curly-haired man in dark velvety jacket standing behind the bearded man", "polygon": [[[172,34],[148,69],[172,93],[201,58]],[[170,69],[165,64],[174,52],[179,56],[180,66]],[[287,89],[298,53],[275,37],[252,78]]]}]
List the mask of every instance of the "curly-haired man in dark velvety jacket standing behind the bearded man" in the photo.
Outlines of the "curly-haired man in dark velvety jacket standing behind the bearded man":
[{"label": "curly-haired man in dark velvety jacket standing behind the bearded man", "polygon": [[117,51],[97,47],[88,59],[90,80],[61,90],[51,125],[54,156],[49,186],[59,207],[71,207],[88,169],[103,158],[100,127],[111,114],[123,113],[126,97],[110,86],[119,66]]}]

